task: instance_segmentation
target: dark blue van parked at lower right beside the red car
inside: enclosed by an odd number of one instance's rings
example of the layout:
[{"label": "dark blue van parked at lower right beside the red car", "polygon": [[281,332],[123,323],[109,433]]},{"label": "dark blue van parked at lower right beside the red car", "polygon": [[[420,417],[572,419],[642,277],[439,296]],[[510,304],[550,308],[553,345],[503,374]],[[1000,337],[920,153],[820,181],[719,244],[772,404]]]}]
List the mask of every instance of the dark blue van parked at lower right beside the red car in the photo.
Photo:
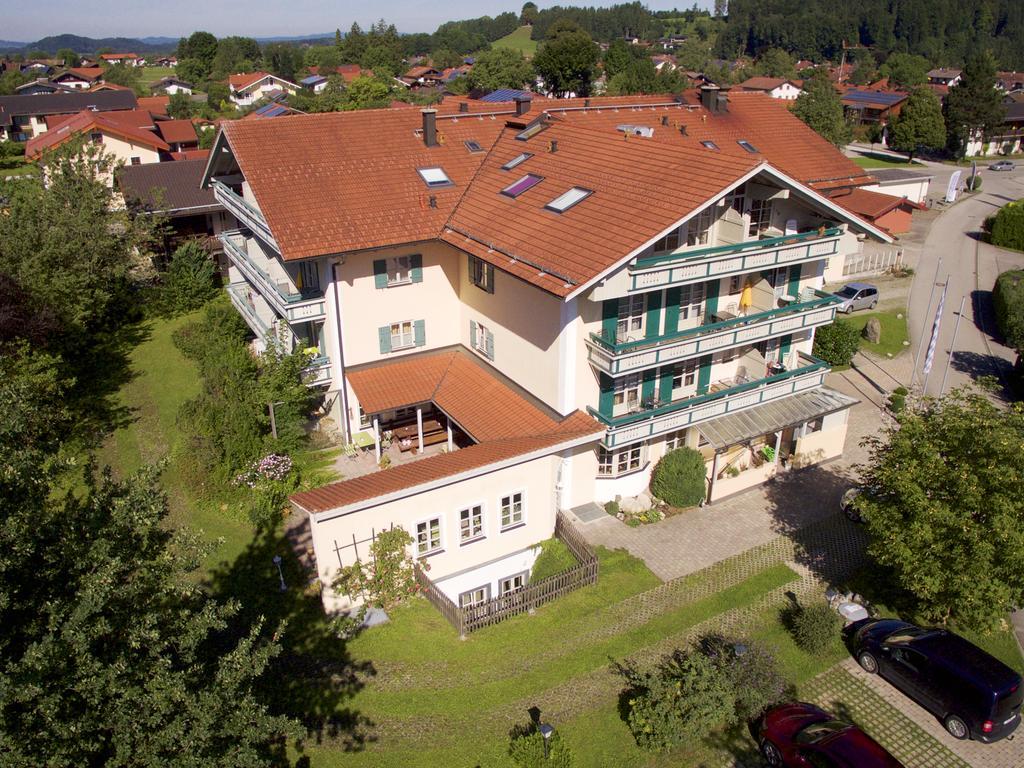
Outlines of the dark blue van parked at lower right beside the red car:
[{"label": "dark blue van parked at lower right beside the red car", "polygon": [[931,711],[952,736],[987,743],[1020,725],[1021,676],[959,635],[865,618],[850,625],[847,637],[865,672]]}]

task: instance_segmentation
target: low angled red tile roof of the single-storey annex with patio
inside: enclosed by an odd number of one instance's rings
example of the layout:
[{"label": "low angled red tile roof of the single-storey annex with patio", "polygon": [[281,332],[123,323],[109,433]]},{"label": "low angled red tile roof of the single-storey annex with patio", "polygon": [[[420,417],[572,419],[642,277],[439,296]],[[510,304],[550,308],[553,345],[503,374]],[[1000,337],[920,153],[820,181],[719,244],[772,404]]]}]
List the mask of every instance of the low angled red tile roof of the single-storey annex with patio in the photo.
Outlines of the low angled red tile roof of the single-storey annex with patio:
[{"label": "low angled red tile roof of the single-storey annex with patio", "polygon": [[546,412],[463,347],[351,369],[348,380],[367,413],[433,401],[477,444],[294,495],[309,512],[412,490],[579,438],[596,440],[604,431],[579,411],[564,419]]}]

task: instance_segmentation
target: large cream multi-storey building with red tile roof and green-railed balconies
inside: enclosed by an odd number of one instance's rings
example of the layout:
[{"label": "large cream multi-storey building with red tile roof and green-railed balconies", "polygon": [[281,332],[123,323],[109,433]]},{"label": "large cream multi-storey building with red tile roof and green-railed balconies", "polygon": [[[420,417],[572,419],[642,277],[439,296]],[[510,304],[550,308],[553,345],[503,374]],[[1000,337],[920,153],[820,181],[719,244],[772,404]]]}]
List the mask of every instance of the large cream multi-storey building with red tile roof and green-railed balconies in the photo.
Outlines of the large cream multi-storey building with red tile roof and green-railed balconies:
[{"label": "large cream multi-storey building with red tile roof and green-railed balconies", "polygon": [[392,524],[469,605],[676,446],[712,503],[843,451],[855,400],[810,355],[823,269],[891,236],[828,198],[867,172],[762,94],[225,122],[206,181],[257,344],[313,350],[346,442],[421,452],[293,497],[331,610]]}]

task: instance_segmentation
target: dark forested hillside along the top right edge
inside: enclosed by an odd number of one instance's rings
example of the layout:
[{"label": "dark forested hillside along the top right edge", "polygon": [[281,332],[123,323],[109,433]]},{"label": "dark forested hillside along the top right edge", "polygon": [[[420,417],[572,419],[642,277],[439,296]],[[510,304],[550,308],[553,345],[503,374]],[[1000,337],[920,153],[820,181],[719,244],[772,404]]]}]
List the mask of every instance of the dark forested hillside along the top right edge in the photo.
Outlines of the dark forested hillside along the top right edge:
[{"label": "dark forested hillside along the top right edge", "polygon": [[730,0],[716,49],[724,57],[783,48],[837,59],[843,41],[961,66],[977,47],[1024,69],[1024,0]]}]

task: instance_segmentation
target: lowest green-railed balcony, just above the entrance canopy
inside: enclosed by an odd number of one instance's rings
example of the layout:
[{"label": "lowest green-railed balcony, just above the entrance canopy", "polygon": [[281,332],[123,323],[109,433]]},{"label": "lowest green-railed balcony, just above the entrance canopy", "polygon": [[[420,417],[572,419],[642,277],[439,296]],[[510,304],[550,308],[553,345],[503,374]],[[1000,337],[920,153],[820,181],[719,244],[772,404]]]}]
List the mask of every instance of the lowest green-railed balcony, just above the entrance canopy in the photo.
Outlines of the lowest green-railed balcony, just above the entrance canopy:
[{"label": "lowest green-railed balcony, just above the entrance canopy", "polygon": [[824,383],[829,371],[827,362],[804,353],[799,354],[799,360],[801,365],[788,371],[746,382],[715,382],[705,394],[675,402],[649,400],[634,413],[622,416],[609,417],[593,408],[587,411],[608,428],[604,443],[609,449],[615,449],[787,397]]}]

